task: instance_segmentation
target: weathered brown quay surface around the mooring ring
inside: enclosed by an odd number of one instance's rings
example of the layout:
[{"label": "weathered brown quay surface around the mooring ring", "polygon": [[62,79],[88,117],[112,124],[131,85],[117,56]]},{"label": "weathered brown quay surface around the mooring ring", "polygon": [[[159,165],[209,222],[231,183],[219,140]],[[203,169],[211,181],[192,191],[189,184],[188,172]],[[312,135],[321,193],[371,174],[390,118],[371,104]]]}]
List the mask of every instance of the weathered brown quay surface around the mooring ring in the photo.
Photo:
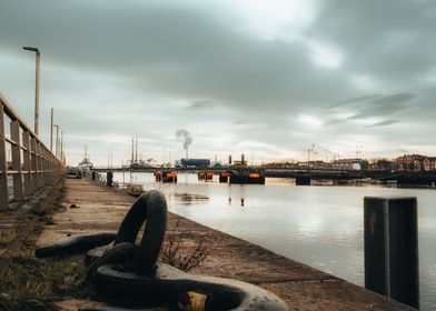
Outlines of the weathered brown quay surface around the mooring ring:
[{"label": "weathered brown quay surface around the mooring ring", "polygon": [[[69,234],[116,232],[135,198],[87,179],[67,179],[63,212],[53,214],[37,241],[42,245]],[[231,278],[257,284],[280,297],[289,310],[415,310],[364,288],[278,255],[259,245],[169,213],[168,233],[181,248],[212,237],[209,255],[190,273]],[[187,233],[188,232],[188,233]],[[82,301],[65,301],[60,310],[77,310]],[[90,305],[90,302],[86,302]]]}]

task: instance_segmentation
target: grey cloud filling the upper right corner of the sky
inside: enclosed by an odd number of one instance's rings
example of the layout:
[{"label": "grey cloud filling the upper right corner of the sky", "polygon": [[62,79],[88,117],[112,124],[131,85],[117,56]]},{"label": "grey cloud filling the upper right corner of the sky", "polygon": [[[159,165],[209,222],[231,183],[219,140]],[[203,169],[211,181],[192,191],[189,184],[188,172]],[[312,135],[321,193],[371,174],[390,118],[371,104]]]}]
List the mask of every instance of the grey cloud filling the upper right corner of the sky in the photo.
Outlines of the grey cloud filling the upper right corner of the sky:
[{"label": "grey cloud filling the upper right corner of the sky", "polygon": [[309,36],[346,53],[348,70],[415,82],[436,64],[434,2],[328,1]]}]

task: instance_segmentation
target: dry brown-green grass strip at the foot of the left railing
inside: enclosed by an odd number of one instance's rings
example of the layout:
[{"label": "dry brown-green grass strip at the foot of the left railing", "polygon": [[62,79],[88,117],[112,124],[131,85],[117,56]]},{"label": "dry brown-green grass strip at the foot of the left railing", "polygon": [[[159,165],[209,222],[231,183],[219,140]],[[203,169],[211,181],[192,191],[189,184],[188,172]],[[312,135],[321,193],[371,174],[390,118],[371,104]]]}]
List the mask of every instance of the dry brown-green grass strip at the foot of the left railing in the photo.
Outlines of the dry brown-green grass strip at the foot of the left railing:
[{"label": "dry brown-green grass strip at the foot of the left railing", "polygon": [[0,275],[0,311],[53,310],[53,301],[62,297],[88,297],[88,290],[81,285],[85,275],[81,261],[43,261],[33,257],[42,223],[62,195],[60,182],[0,235],[0,259],[7,267]]}]

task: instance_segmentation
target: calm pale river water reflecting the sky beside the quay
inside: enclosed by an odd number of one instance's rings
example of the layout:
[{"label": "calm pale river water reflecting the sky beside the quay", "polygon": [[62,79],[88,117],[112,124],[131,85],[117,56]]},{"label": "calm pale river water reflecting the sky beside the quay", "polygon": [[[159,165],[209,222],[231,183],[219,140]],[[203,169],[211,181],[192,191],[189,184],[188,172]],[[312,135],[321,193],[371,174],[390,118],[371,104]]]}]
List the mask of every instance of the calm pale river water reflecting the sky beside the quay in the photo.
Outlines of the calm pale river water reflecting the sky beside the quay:
[{"label": "calm pale river water reflecting the sky beside the quay", "polygon": [[293,179],[265,185],[220,184],[179,174],[177,184],[151,173],[115,173],[167,195],[169,210],[364,285],[364,197],[418,199],[420,309],[436,310],[436,190],[383,187],[297,187]]}]

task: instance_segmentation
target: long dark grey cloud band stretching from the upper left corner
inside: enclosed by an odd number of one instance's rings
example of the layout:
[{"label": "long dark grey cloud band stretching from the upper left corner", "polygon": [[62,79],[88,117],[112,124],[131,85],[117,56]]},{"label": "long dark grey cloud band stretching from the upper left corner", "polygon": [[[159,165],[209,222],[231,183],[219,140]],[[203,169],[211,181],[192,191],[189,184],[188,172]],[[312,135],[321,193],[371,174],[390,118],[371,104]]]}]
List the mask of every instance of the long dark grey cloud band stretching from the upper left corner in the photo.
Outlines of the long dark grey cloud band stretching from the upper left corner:
[{"label": "long dark grey cloud band stretching from the upper left corner", "polygon": [[38,43],[48,62],[122,74],[145,93],[206,97],[251,113],[351,96],[340,88],[348,84],[346,74],[331,79],[331,71],[311,63],[307,47],[244,36],[210,11],[157,2],[135,10],[42,3],[29,1],[22,10],[19,1],[4,1],[10,12],[0,19],[4,49]]}]

